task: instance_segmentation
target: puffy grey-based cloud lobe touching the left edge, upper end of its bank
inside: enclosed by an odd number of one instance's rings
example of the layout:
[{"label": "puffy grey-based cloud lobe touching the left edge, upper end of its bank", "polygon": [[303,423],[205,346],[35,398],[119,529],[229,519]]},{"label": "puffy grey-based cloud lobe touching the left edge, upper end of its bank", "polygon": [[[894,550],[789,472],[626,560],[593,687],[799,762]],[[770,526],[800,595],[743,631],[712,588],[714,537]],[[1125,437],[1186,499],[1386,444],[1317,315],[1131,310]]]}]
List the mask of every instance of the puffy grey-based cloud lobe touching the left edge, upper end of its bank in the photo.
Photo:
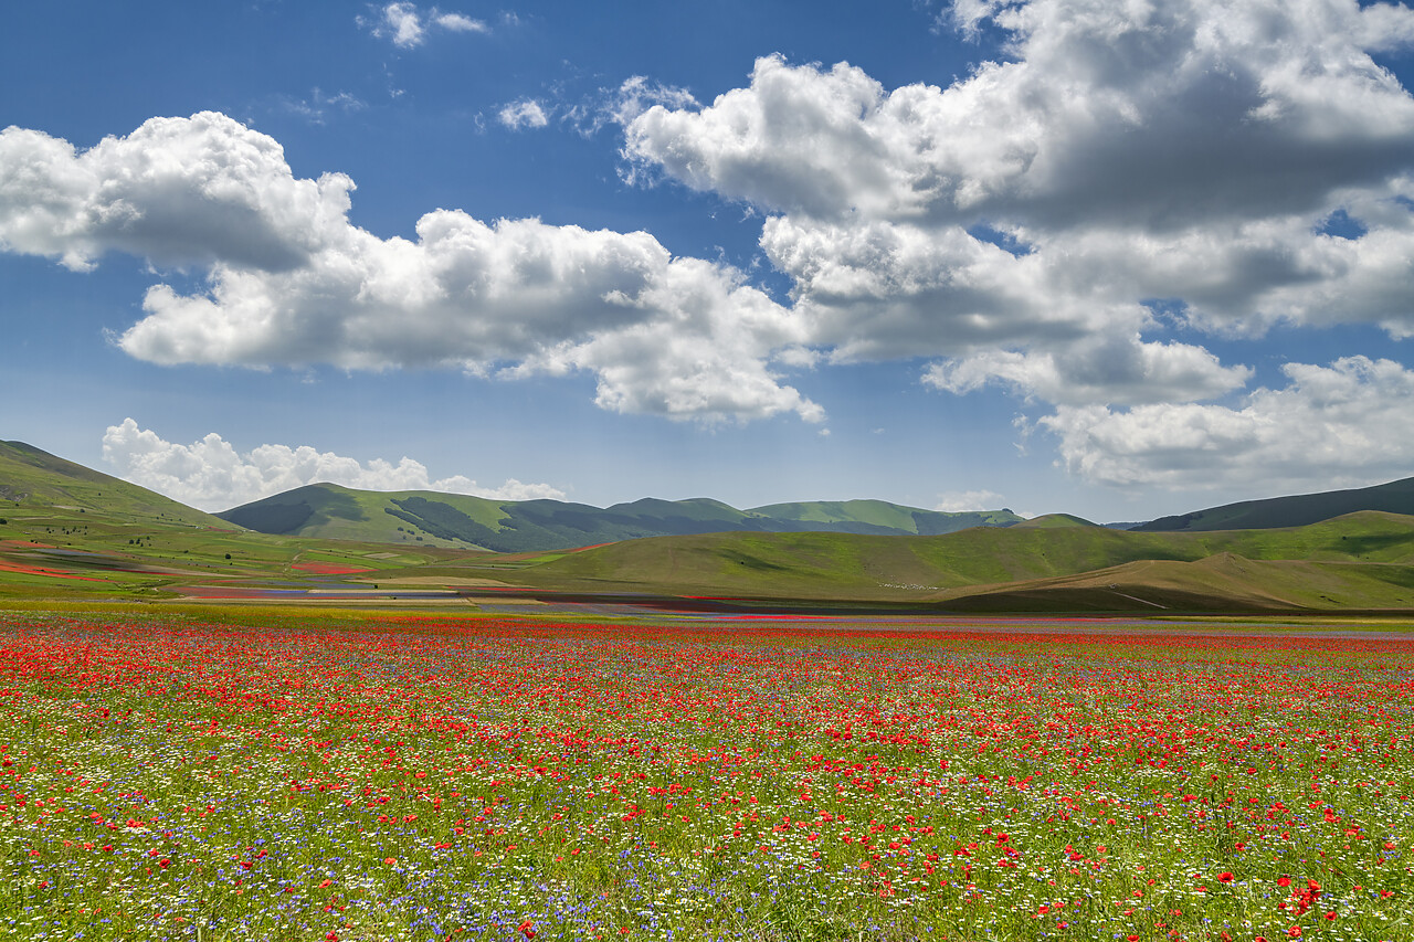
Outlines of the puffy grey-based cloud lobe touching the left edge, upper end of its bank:
[{"label": "puffy grey-based cloud lobe touching the left edge, upper end of its bank", "polygon": [[0,132],[0,246],[83,272],[109,250],[157,264],[284,272],[346,229],[354,181],[296,180],[280,144],[229,117],[154,117],[78,153]]}]

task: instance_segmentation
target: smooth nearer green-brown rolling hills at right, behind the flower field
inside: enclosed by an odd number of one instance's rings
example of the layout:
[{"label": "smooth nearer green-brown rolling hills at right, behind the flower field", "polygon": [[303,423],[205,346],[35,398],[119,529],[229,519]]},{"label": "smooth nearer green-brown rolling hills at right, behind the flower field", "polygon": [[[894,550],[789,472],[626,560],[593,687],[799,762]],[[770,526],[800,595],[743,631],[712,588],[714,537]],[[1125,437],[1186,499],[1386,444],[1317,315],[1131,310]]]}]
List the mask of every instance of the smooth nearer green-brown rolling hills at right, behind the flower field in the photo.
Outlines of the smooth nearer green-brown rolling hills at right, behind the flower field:
[{"label": "smooth nearer green-brown rolling hills at right, behind the flower field", "polygon": [[[1390,607],[1414,605],[1407,586],[1411,563],[1414,518],[1363,512],[1299,529],[1215,533],[1069,526],[978,528],[939,537],[660,537],[566,556],[523,578],[580,588],[836,598],[956,600],[995,595],[1005,586],[1031,598],[1062,588],[1107,588],[1117,580],[1102,570],[1143,564],[1120,573],[1120,581],[1143,587],[1157,580],[1172,593],[1216,600],[1217,607],[1223,600],[1250,600],[1243,607],[1251,607],[1281,598],[1297,605]],[[1082,574],[1093,578],[1053,581]],[[1329,600],[1322,603],[1322,595]],[[1133,600],[1123,607],[1145,608]]]}]

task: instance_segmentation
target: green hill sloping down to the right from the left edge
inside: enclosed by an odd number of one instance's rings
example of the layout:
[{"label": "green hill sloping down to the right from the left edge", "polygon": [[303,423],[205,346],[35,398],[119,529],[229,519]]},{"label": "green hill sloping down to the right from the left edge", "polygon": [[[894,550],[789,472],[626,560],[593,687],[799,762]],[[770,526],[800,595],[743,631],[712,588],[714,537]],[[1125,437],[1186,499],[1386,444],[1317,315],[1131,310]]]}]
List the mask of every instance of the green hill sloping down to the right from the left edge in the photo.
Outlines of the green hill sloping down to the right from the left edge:
[{"label": "green hill sloping down to the right from the left edge", "polygon": [[211,513],[23,441],[0,441],[0,508],[4,508],[0,515],[33,516],[59,511],[64,516],[83,513],[95,519],[229,526]]}]

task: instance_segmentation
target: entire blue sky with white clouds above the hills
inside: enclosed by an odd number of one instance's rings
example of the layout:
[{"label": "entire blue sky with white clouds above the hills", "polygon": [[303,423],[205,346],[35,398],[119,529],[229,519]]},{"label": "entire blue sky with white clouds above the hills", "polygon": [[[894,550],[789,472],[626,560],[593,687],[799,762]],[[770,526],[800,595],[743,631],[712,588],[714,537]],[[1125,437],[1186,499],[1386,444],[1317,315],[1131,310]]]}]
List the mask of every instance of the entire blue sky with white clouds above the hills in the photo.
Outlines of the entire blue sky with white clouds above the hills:
[{"label": "entire blue sky with white clouds above the hills", "polygon": [[1414,475],[1414,10],[20,4],[0,438],[1144,521]]}]

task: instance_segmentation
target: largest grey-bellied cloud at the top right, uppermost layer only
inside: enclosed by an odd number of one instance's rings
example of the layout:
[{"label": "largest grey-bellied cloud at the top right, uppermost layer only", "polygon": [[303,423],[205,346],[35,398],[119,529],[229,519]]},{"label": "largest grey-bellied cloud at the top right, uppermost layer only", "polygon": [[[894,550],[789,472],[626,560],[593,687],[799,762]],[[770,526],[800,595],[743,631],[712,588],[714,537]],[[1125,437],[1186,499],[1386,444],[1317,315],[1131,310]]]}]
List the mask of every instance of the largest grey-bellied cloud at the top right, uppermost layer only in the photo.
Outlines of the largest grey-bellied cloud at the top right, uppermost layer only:
[{"label": "largest grey-bellied cloud at the top right, uppermost layer only", "polygon": [[706,109],[638,115],[626,154],[812,218],[1161,231],[1319,209],[1414,153],[1414,100],[1370,59],[1353,0],[988,6],[1014,62],[887,92],[768,57]]}]

